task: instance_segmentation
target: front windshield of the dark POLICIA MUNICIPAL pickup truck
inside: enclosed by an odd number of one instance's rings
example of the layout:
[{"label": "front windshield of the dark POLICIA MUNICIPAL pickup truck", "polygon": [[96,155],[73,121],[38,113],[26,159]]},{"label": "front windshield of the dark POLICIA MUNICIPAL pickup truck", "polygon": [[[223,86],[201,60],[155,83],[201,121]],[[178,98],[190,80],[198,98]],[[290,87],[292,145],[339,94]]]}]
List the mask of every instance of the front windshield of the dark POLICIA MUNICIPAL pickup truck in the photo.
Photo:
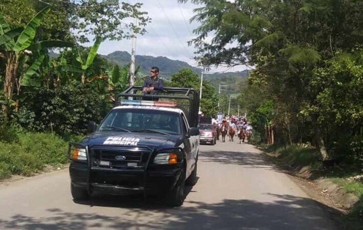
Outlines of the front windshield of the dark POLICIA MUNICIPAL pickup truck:
[{"label": "front windshield of the dark POLICIA MUNICIPAL pickup truck", "polygon": [[[110,128],[115,127],[115,128]],[[177,112],[156,109],[114,109],[104,119],[99,131],[124,129],[135,132],[181,134],[180,115]]]}]

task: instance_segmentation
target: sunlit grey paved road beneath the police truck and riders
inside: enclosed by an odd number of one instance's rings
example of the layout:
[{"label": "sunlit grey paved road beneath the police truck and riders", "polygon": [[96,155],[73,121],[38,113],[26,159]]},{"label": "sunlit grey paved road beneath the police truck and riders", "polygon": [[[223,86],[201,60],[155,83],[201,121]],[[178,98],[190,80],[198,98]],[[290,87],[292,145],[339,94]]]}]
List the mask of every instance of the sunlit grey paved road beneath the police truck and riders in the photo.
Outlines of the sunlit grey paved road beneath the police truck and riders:
[{"label": "sunlit grey paved road beneath the police truck and riders", "polygon": [[142,197],[75,203],[67,170],[0,186],[0,229],[335,229],[251,145],[202,146],[197,185],[180,208]]}]

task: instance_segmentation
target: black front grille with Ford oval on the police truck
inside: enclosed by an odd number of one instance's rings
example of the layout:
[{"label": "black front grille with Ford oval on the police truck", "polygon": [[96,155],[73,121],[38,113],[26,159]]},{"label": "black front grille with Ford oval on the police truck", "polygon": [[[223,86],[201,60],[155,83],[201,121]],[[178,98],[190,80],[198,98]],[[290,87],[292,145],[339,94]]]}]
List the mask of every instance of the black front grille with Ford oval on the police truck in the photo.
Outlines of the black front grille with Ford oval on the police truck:
[{"label": "black front grille with Ford oval on the police truck", "polygon": [[149,152],[120,150],[91,150],[92,167],[141,168],[146,166]]}]

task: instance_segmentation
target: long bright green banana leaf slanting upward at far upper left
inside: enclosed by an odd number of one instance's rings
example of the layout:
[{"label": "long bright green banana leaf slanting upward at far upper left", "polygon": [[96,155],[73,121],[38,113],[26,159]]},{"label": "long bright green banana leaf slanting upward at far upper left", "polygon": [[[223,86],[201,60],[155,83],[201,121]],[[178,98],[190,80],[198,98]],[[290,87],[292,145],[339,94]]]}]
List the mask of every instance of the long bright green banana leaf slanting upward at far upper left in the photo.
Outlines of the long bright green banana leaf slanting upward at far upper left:
[{"label": "long bright green banana leaf slanting upward at far upper left", "polygon": [[34,40],[36,29],[40,25],[40,20],[50,11],[49,7],[46,7],[39,11],[24,28],[23,32],[17,38],[13,50],[16,54],[27,49]]}]

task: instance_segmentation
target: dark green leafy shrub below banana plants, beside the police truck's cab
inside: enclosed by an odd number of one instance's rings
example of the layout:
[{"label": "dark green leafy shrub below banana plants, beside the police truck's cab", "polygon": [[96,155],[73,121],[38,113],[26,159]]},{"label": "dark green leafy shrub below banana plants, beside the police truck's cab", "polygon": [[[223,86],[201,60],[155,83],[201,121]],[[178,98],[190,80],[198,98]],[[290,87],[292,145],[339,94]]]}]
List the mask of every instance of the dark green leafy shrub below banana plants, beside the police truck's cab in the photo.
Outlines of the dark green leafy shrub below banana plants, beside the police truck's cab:
[{"label": "dark green leafy shrub below banana plants, beside the police truck's cab", "polygon": [[15,121],[29,131],[54,131],[61,136],[86,133],[88,122],[100,122],[111,107],[89,84],[39,88],[24,94]]}]

